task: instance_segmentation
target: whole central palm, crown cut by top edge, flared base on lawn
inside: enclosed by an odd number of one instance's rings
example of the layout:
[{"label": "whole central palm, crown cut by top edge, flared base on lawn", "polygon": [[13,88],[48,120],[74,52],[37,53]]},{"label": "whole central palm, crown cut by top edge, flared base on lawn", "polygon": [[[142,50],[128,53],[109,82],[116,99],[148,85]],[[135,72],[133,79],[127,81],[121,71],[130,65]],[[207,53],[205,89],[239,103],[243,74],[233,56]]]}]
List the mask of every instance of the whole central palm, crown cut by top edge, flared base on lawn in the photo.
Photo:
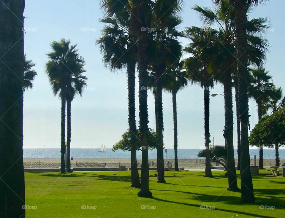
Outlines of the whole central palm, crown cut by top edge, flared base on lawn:
[{"label": "whole central palm, crown cut by top edge, flared base on lawn", "polygon": [[139,115],[140,115],[140,132],[142,141],[142,171],[141,171],[141,188],[138,192],[139,197],[151,197],[149,191],[149,167],[148,167],[148,38],[149,34],[146,27],[151,27],[152,7],[151,0],[129,0],[130,16],[130,33],[137,37],[138,49],[138,71],[139,71]]}]

